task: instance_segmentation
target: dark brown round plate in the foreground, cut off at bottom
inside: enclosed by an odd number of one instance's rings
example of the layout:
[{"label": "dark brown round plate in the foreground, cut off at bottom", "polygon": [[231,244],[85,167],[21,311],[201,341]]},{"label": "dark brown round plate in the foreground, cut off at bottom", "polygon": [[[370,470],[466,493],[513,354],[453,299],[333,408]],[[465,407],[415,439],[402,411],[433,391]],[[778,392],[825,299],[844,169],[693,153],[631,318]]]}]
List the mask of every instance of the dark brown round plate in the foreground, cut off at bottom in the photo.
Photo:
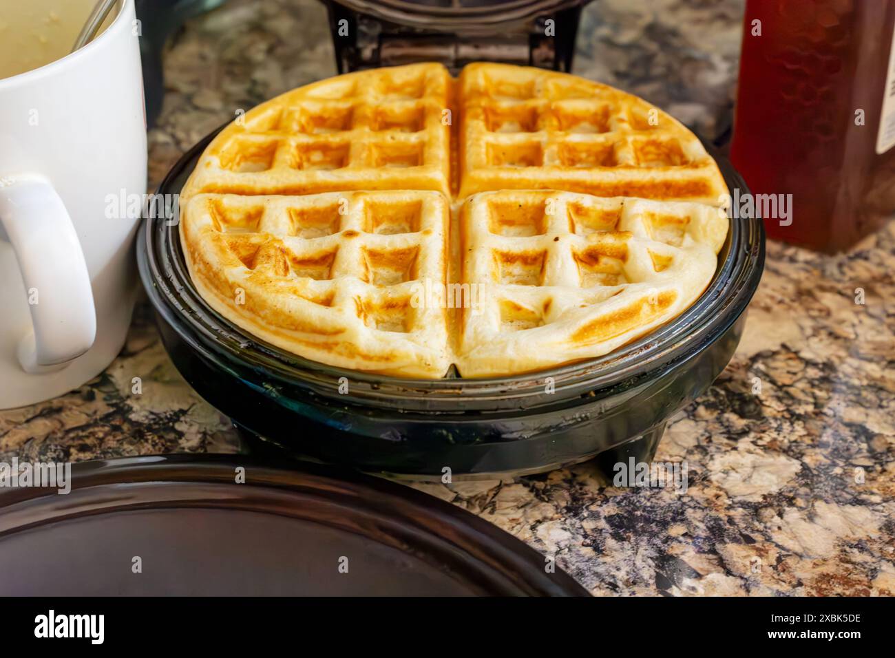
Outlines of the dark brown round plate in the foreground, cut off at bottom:
[{"label": "dark brown round plate in the foreground, cut off at bottom", "polygon": [[0,553],[15,568],[0,594],[587,594],[461,508],[379,478],[296,468],[130,457],[72,466],[65,495],[4,488]]}]

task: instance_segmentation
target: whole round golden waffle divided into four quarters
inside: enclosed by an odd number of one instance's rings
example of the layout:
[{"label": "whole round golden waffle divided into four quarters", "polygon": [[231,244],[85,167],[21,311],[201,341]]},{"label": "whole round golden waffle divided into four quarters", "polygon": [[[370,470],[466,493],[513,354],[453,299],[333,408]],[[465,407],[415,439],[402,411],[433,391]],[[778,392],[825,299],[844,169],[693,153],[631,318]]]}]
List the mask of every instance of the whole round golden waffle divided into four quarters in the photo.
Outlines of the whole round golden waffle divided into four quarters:
[{"label": "whole round golden waffle divided into four quarters", "polygon": [[714,161],[651,110],[501,64],[290,91],[184,185],[190,276],[227,320],[343,368],[486,377],[606,354],[703,293],[728,231]]}]

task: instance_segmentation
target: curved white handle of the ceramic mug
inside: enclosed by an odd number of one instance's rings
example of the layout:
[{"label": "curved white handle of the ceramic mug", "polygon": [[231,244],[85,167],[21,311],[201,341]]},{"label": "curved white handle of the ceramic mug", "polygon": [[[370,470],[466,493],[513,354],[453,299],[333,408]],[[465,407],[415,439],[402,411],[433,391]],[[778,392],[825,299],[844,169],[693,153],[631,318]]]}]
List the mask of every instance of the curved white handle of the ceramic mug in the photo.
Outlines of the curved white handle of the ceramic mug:
[{"label": "curved white handle of the ceramic mug", "polygon": [[21,368],[32,374],[61,370],[97,335],[90,273],[72,219],[46,178],[17,175],[0,178],[0,228],[29,291],[33,331],[19,343]]}]

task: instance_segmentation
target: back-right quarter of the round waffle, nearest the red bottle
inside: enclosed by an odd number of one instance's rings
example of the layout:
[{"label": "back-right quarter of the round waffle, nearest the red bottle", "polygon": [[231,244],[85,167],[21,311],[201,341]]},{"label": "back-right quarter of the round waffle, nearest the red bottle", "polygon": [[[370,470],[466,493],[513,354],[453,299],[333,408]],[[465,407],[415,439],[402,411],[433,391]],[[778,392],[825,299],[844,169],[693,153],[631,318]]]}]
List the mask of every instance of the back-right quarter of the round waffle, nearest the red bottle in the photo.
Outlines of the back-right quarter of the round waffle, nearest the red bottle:
[{"label": "back-right quarter of the round waffle, nearest the red bottle", "polygon": [[460,197],[504,189],[720,203],[702,143],[641,98],[574,75],[469,64],[460,76]]}]

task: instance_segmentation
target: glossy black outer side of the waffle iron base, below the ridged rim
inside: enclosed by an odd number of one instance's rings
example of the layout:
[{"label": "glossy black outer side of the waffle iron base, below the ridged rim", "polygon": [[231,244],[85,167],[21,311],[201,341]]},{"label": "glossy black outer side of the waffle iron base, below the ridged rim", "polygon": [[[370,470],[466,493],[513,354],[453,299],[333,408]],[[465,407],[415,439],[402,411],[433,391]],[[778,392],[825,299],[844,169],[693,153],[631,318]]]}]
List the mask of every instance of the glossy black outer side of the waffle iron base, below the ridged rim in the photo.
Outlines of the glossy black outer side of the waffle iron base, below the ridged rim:
[{"label": "glossy black outer side of the waffle iron base, below the ridged rim", "polygon": [[[742,335],[746,316],[740,316],[723,336],[699,355],[680,363],[659,379],[626,390],[626,402],[607,413],[606,398],[575,406],[577,423],[567,423],[559,412],[523,416],[522,427],[501,433],[499,421],[452,421],[454,414],[430,419],[422,426],[394,421],[393,432],[379,436],[329,423],[328,404],[298,414],[271,406],[268,397],[242,380],[230,380],[208,363],[166,324],[157,313],[158,328],[168,355],[193,389],[211,406],[230,416],[253,455],[311,458],[352,466],[371,473],[439,479],[445,467],[454,478],[516,476],[541,473],[595,458],[601,473],[611,479],[613,466],[650,462],[659,446],[669,416],[699,397],[729,363]],[[630,396],[630,397],[629,397]],[[629,400],[629,401],[627,401]],[[632,404],[633,403],[633,404]],[[611,404],[611,402],[609,402]],[[516,419],[518,420],[518,419]],[[480,433],[481,432],[481,433]]]}]

